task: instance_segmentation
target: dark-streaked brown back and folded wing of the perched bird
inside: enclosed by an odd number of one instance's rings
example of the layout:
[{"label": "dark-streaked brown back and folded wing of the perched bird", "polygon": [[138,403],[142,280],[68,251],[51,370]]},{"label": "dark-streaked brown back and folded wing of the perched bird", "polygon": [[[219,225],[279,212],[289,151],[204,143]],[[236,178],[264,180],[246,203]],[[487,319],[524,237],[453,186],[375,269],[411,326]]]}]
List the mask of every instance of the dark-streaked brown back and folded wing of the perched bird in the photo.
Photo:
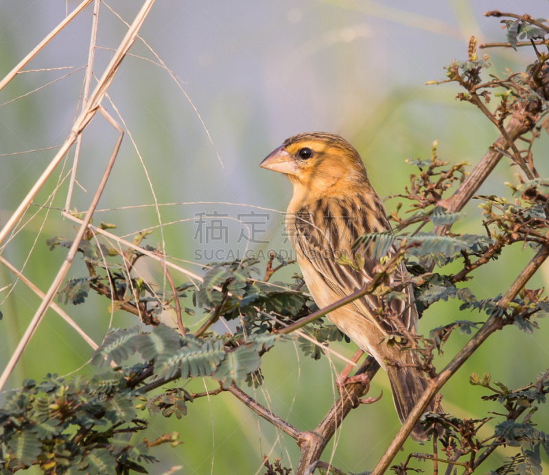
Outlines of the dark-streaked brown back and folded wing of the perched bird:
[{"label": "dark-streaked brown back and folded wing of the perched bird", "polygon": [[[383,207],[376,200],[367,201],[359,196],[352,198],[322,198],[308,207],[303,207],[294,217],[294,244],[325,281],[340,297],[346,297],[372,281],[373,270],[379,261],[369,251],[360,251],[364,264],[361,268],[338,264],[343,256],[356,262],[357,251],[353,242],[364,233],[382,232],[390,229]],[[398,268],[390,281],[399,281],[406,275],[404,264]],[[404,328],[411,329],[417,321],[417,310],[412,303],[412,289],[405,286],[406,300],[392,299],[384,312],[379,314],[379,298],[368,294],[349,305],[353,310],[369,318],[385,334],[399,334]]]}]

